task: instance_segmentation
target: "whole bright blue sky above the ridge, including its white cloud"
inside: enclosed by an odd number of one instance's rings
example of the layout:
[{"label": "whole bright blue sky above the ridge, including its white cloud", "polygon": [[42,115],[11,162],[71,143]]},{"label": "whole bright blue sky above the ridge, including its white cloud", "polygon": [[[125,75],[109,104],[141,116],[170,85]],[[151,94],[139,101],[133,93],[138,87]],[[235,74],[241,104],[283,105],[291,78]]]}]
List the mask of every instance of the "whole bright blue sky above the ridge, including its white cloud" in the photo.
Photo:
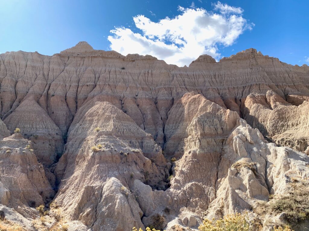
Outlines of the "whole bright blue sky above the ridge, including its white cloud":
[{"label": "whole bright blue sky above the ridge, including its white cloud", "polygon": [[218,60],[253,47],[309,64],[308,7],[275,0],[0,0],[0,52],[53,55],[87,41],[94,49],[147,52],[183,66],[202,53]]}]

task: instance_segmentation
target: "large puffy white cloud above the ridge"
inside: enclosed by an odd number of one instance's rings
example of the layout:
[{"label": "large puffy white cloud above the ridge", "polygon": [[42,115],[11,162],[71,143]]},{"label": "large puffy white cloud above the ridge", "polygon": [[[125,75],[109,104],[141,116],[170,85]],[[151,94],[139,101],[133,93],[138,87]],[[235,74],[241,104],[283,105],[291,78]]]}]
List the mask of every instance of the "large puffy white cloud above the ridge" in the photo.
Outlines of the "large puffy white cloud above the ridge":
[{"label": "large puffy white cloud above the ridge", "polygon": [[202,54],[220,58],[218,45],[230,46],[243,33],[252,30],[242,17],[243,10],[217,2],[214,12],[179,6],[179,15],[153,22],[144,15],[133,17],[140,32],[116,27],[108,36],[110,48],[123,55],[152,55],[168,64],[184,66]]}]

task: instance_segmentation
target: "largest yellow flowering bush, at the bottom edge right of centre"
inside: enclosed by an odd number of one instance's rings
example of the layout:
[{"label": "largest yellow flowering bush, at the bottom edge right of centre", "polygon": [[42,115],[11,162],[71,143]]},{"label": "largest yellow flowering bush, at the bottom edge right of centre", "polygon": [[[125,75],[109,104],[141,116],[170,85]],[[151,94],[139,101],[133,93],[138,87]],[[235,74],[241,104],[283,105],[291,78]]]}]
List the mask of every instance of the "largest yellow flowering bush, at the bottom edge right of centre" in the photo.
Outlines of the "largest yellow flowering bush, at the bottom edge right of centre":
[{"label": "largest yellow flowering bush, at the bottom edge right of centre", "polygon": [[201,231],[249,231],[249,223],[245,215],[240,213],[228,214],[215,221],[205,219],[198,227]]}]

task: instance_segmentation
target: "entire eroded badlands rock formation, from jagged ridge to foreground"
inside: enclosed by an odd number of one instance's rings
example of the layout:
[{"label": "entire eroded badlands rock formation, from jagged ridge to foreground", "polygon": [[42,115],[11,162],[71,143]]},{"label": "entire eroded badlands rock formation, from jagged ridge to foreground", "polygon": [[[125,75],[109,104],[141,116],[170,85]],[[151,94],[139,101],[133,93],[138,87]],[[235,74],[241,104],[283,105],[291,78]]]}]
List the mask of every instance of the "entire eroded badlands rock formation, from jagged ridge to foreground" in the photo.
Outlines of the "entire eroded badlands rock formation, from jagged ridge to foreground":
[{"label": "entire eroded badlands rock formation, from jagged ridge to foreground", "polygon": [[0,210],[25,230],[198,229],[245,211],[271,230],[288,212],[261,205],[307,192],[306,65],[248,49],[177,67],[80,42],[1,54],[0,82]]}]

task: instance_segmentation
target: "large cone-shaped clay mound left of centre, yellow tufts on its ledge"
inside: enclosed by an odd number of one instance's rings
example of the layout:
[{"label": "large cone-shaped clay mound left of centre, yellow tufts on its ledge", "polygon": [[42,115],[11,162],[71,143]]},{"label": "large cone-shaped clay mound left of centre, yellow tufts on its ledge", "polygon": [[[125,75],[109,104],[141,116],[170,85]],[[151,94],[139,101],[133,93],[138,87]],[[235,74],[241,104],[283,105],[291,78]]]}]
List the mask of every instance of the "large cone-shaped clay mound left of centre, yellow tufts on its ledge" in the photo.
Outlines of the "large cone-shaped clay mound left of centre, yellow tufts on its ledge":
[{"label": "large cone-shaped clay mound left of centre, yellow tufts on its ledge", "polygon": [[70,127],[56,168],[61,184],[55,201],[70,219],[92,230],[142,227],[133,181],[165,188],[167,167],[150,134],[111,103],[93,99],[79,109]]}]

